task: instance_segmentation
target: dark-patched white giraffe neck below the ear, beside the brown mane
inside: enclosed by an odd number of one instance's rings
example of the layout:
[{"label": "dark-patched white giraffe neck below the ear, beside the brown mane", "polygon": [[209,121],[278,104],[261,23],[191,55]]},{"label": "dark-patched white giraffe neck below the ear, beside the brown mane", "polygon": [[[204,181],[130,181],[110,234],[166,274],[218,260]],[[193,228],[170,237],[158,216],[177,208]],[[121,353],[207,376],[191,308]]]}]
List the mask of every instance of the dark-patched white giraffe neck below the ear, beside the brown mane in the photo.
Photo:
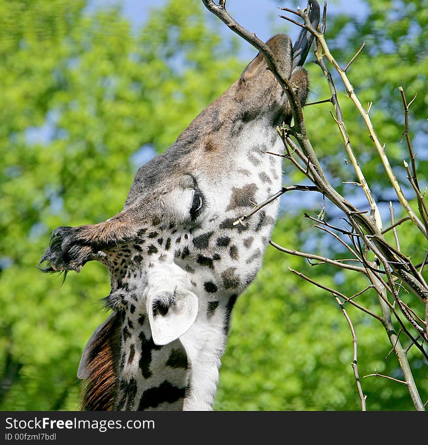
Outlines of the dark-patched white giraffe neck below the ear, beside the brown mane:
[{"label": "dark-patched white giraffe neck below the ear, beside the brown mane", "polygon": [[146,317],[126,313],[115,409],[211,410],[227,337],[220,323],[226,310],[217,307],[213,313],[217,329],[213,323],[196,322],[181,338],[162,346],[153,342]]}]

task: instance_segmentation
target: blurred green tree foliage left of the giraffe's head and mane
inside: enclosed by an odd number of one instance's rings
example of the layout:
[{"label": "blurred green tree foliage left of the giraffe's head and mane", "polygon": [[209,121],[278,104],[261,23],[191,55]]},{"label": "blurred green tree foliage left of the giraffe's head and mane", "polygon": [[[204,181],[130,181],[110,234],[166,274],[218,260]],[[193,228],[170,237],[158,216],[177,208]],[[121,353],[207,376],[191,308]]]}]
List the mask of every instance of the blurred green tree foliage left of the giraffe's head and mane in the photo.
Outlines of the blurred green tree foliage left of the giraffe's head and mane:
[{"label": "blurred green tree foliage left of the giraffe's head and mane", "polygon": [[196,0],[154,10],[138,35],[118,8],[85,3],[0,2],[1,409],[76,409],[80,355],[105,318],[103,267],[62,286],[36,269],[49,232],[119,212],[136,164],[243,67]]}]

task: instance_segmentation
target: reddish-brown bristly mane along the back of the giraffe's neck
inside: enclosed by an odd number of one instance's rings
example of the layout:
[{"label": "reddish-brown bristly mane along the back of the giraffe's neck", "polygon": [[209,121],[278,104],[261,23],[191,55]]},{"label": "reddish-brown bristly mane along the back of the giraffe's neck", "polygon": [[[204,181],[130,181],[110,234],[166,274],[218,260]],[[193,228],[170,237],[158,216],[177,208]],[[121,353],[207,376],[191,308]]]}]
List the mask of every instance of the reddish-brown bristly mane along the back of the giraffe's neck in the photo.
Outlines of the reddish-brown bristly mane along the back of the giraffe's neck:
[{"label": "reddish-brown bristly mane along the back of the giraffe's neck", "polygon": [[116,405],[121,318],[112,316],[97,333],[88,351],[88,377],[82,381],[81,409],[112,411]]}]

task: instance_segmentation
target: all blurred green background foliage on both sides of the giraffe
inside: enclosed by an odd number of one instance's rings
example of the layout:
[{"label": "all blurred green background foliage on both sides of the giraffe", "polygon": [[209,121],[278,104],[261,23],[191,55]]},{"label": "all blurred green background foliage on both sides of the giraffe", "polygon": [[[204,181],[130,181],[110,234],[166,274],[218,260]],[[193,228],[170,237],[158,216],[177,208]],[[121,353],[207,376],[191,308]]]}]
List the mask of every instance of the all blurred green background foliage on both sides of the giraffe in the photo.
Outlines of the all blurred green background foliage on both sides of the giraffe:
[{"label": "all blurred green background foliage on both sides of the giraffe", "polygon": [[[361,100],[374,102],[376,131],[398,170],[405,157],[399,85],[409,100],[418,92],[410,125],[413,134],[427,133],[424,3],[406,1],[398,8],[396,2],[370,1],[367,23],[339,17],[328,26],[342,65],[363,40],[368,42],[349,76]],[[137,167],[133,156],[144,155],[147,147],[168,148],[245,66],[237,60],[236,39],[220,38],[215,20],[207,20],[197,0],[169,0],[137,34],[118,9],[89,15],[85,6],[70,0],[0,1],[1,409],[76,409],[80,356],[106,318],[99,300],[109,292],[109,277],[100,264],[89,263],[63,285],[61,278],[36,269],[50,231],[119,212]],[[344,42],[338,36],[346,24]],[[328,97],[319,68],[308,68],[313,100]],[[384,196],[387,182],[379,175],[368,133],[350,101],[340,93],[339,100],[364,173]],[[341,187],[342,180],[354,180],[328,105],[308,107],[305,117],[332,181]],[[419,168],[426,181],[422,162]],[[286,185],[302,180],[287,164],[285,173]],[[345,191],[355,195],[351,186]],[[285,210],[292,207],[289,199]],[[317,197],[305,211],[315,216],[321,204]],[[326,218],[333,216],[327,204]],[[327,249],[343,255],[315,235],[296,210],[283,214],[273,239],[288,248],[309,245],[313,253]],[[425,251],[409,225],[400,230],[400,239],[422,261]],[[215,409],[359,409],[346,320],[331,295],[288,266],[348,296],[367,285],[352,273],[311,267],[269,248],[264,268],[234,309]],[[359,302],[378,311],[371,291]],[[399,378],[395,356],[385,359],[390,344],[380,324],[347,310],[357,331],[360,376],[376,369]],[[426,400],[426,367],[410,353]],[[412,409],[404,385],[377,377],[363,379],[362,385],[368,409]]]}]

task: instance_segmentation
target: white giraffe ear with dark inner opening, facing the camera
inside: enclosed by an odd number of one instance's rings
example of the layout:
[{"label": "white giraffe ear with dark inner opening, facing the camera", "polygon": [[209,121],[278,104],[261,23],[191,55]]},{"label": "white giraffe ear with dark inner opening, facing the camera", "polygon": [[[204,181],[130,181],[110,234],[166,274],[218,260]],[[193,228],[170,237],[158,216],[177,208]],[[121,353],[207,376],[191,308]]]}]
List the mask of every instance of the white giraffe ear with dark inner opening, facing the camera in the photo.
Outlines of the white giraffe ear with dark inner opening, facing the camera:
[{"label": "white giraffe ear with dark inner opening, facing the camera", "polygon": [[190,291],[148,295],[147,314],[153,342],[165,345],[186,333],[196,320],[197,297]]}]

